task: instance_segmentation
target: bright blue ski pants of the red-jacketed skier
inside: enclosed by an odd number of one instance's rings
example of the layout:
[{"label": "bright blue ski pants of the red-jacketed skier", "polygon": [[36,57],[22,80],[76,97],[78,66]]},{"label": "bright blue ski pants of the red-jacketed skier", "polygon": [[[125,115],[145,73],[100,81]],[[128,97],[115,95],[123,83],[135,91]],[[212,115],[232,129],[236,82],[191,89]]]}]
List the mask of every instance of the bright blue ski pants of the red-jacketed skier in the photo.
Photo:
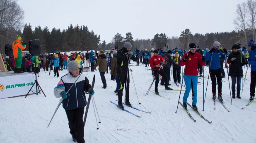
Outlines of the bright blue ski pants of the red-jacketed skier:
[{"label": "bright blue ski pants of the red-jacketed skier", "polygon": [[188,100],[188,95],[190,93],[190,90],[191,90],[191,82],[193,84],[193,92],[194,92],[194,95],[192,96],[192,105],[196,105],[197,103],[197,81],[198,81],[198,76],[197,75],[193,75],[193,76],[190,76],[190,75],[184,75],[184,82],[185,82],[185,85],[186,85],[186,91],[184,93],[184,96],[183,96],[183,103],[186,103],[187,100]]}]

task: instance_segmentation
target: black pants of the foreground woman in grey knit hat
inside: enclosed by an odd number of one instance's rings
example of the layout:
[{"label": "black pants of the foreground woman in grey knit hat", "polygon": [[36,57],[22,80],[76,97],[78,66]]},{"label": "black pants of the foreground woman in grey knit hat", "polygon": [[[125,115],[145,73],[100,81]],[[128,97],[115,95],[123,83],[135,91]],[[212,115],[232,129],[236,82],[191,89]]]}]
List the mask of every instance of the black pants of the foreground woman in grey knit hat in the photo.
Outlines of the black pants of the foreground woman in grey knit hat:
[{"label": "black pants of the foreground woman in grey knit hat", "polygon": [[77,143],[85,143],[83,121],[85,107],[65,111],[68,116],[70,134],[77,134]]}]

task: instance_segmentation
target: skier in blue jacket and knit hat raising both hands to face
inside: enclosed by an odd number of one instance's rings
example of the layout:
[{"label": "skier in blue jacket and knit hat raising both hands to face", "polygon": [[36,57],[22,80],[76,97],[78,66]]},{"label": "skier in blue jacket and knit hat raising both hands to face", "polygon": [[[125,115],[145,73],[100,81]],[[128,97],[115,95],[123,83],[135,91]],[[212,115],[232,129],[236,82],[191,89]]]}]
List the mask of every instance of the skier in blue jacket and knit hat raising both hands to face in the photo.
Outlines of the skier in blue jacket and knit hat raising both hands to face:
[{"label": "skier in blue jacket and knit hat raising both hands to face", "polygon": [[[218,99],[223,101],[222,99],[222,79],[221,79],[221,65],[220,59],[225,60],[225,54],[219,51],[220,42],[215,41],[213,43],[213,48],[206,54],[205,60],[209,61],[209,69],[210,69],[210,78],[212,80],[212,92],[213,92],[213,100],[216,99],[216,85],[218,84]],[[216,83],[217,78],[217,83]]]}]

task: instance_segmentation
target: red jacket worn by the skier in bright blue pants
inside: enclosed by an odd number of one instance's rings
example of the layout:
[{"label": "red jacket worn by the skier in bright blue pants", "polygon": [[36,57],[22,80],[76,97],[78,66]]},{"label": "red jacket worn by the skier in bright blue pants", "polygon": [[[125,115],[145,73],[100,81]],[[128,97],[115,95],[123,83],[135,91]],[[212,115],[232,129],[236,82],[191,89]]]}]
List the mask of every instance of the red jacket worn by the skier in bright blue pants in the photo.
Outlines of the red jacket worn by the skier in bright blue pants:
[{"label": "red jacket worn by the skier in bright blue pants", "polygon": [[[188,60],[183,61],[184,57],[188,54]],[[190,52],[186,52],[181,58],[181,66],[186,65],[185,75],[198,75],[198,64],[203,66],[202,56],[199,53],[190,54]]]}]

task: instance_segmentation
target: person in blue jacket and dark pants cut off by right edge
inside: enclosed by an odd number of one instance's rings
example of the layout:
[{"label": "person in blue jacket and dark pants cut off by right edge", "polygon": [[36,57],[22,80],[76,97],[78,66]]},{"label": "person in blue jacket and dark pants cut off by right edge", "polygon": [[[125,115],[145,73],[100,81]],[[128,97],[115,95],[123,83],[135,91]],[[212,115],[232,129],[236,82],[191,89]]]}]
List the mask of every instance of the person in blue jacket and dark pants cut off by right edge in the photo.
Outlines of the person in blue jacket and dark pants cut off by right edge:
[{"label": "person in blue jacket and dark pants cut off by right edge", "polygon": [[251,65],[250,101],[252,101],[255,97],[256,86],[256,43],[253,39],[248,43],[248,47],[251,50],[249,53],[249,65]]}]

